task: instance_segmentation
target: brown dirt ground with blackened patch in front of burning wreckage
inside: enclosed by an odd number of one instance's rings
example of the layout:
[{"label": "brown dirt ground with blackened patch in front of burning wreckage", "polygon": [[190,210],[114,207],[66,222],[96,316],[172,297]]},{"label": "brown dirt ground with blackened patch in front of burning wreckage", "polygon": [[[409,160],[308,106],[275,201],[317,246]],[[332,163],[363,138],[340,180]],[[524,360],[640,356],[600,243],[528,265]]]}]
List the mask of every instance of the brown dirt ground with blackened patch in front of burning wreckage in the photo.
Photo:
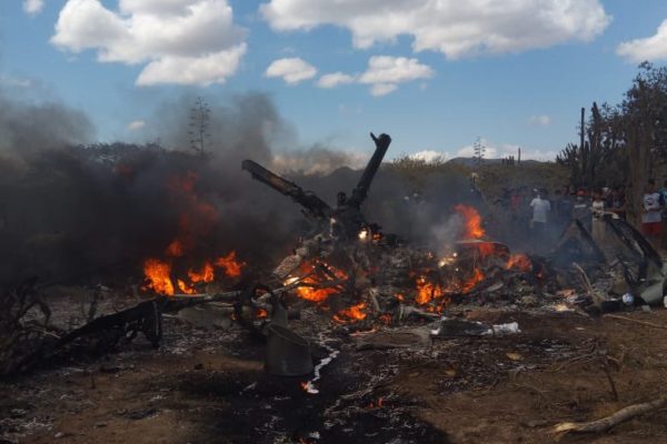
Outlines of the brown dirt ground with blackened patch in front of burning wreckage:
[{"label": "brown dirt ground with blackened patch in front of burning wreckage", "polygon": [[322,370],[319,394],[263,372],[260,343],[238,330],[166,321],[160,350],[135,341],[0,384],[2,443],[667,443],[667,410],[600,435],[555,435],[665,396],[667,311],[591,319],[470,309],[518,322],[506,336],[436,339],[358,351]]}]

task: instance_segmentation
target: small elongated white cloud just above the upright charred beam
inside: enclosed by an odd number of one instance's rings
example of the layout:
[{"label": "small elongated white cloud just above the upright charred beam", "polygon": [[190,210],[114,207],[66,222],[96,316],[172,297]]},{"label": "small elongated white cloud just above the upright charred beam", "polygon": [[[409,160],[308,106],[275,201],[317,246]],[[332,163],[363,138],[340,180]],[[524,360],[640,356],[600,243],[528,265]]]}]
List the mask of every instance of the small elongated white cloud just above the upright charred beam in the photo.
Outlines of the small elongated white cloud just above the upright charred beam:
[{"label": "small elongated white cloud just above the upright charred beam", "polygon": [[435,71],[429,65],[419,63],[417,59],[374,56],[368,60],[368,68],[361,74],[352,75],[334,72],[322,75],[317,85],[320,88],[335,88],[348,83],[369,84],[370,93],[380,97],[396,91],[399,83],[430,79],[434,74]]}]

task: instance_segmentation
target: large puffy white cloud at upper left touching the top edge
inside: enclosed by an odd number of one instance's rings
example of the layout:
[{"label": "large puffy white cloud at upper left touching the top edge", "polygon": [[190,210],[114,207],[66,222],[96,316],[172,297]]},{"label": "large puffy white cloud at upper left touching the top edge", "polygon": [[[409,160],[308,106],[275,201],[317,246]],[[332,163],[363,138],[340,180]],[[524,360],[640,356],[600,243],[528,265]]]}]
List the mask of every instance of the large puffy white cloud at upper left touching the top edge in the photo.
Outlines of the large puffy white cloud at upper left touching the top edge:
[{"label": "large puffy white cloud at upper left touching the top edge", "polygon": [[227,0],[68,0],[51,43],[100,62],[146,64],[138,85],[223,83],[246,53]]}]

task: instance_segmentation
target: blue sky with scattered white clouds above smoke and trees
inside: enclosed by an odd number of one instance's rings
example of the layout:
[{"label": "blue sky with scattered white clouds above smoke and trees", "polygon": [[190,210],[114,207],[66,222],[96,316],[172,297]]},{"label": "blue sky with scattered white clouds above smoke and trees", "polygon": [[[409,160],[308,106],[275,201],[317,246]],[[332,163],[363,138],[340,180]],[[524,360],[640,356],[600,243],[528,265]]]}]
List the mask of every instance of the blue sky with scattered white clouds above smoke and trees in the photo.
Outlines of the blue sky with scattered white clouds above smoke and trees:
[{"label": "blue sky with scattered white clouds above smoke and trees", "polygon": [[665,0],[2,0],[0,85],[159,138],[183,93],[273,98],[302,144],[552,159],[580,107],[667,60]]}]

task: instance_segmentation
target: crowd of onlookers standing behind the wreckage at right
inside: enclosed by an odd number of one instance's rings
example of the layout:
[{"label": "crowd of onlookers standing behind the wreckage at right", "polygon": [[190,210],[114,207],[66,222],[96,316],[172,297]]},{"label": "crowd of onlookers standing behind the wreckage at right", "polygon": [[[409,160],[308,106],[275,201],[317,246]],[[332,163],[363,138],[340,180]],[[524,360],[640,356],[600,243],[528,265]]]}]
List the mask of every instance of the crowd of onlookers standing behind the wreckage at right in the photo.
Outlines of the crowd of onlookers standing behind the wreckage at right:
[{"label": "crowd of onlookers standing behind the wreckage at right", "polygon": [[[528,225],[534,243],[545,240],[546,232],[561,232],[573,220],[578,220],[596,241],[604,241],[604,216],[626,219],[624,186],[571,189],[564,186],[550,196],[548,190],[527,186],[508,192],[512,216],[517,222],[528,210]],[[641,233],[658,250],[667,246],[667,180],[661,189],[650,179],[644,191]],[[520,226],[520,224],[519,224]]]}]

